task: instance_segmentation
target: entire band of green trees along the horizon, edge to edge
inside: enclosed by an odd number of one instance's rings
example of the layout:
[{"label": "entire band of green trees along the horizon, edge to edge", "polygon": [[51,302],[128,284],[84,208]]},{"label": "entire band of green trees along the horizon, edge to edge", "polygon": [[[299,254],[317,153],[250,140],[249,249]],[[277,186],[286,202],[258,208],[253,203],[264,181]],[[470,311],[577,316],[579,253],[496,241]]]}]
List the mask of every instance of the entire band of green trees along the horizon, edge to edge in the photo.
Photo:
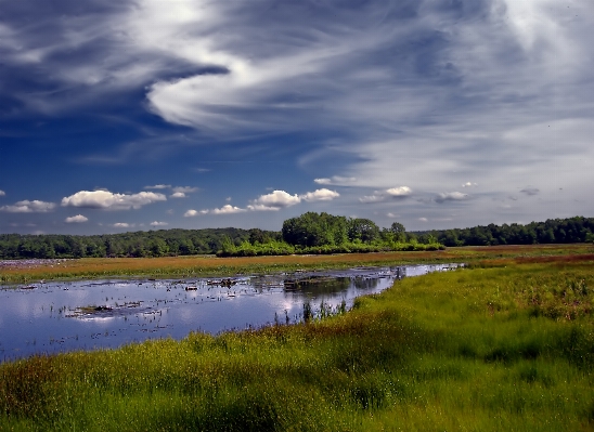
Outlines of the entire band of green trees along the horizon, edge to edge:
[{"label": "entire band of green trees along the horizon, edge to edge", "polygon": [[584,241],[594,241],[594,218],[411,233],[398,222],[379,228],[369,219],[308,212],[286,220],[281,232],[229,227],[91,236],[0,234],[0,259],[340,253]]}]

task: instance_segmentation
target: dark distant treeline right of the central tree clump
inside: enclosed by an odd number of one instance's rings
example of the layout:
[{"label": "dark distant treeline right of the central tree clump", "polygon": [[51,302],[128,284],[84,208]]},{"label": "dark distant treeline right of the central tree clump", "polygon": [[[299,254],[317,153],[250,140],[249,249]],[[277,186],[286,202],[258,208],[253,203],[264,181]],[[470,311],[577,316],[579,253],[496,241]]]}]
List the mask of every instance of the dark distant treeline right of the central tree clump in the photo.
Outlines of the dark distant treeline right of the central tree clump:
[{"label": "dark distant treeline right of the central tree clump", "polygon": [[535,245],[594,241],[594,218],[548,219],[545,222],[517,223],[472,228],[415,233],[430,235],[446,246]]}]

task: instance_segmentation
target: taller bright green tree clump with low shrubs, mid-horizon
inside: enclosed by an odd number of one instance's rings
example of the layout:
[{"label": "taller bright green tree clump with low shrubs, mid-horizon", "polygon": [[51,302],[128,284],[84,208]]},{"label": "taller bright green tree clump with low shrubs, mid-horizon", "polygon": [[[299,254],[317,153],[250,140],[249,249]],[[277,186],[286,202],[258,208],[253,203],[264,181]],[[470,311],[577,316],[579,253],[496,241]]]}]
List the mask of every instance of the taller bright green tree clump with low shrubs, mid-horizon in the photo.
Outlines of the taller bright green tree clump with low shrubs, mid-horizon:
[{"label": "taller bright green tree clump with low shrubs, mid-horizon", "polygon": [[345,218],[328,213],[307,212],[283,223],[282,239],[234,245],[225,240],[219,257],[280,256],[292,253],[349,253],[388,250],[442,249],[435,237],[426,235],[419,241],[406,236],[404,225],[393,222],[379,228],[369,219]]}]

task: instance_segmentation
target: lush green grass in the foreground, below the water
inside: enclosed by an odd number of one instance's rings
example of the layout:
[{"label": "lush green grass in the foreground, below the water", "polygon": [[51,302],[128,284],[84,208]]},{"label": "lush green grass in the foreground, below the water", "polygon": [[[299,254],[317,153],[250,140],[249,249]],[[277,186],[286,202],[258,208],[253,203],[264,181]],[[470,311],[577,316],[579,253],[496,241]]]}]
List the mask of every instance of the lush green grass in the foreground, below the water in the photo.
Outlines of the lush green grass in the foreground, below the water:
[{"label": "lush green grass in the foreground, below the water", "polygon": [[594,262],[481,262],[347,314],[0,365],[0,430],[594,430]]}]

